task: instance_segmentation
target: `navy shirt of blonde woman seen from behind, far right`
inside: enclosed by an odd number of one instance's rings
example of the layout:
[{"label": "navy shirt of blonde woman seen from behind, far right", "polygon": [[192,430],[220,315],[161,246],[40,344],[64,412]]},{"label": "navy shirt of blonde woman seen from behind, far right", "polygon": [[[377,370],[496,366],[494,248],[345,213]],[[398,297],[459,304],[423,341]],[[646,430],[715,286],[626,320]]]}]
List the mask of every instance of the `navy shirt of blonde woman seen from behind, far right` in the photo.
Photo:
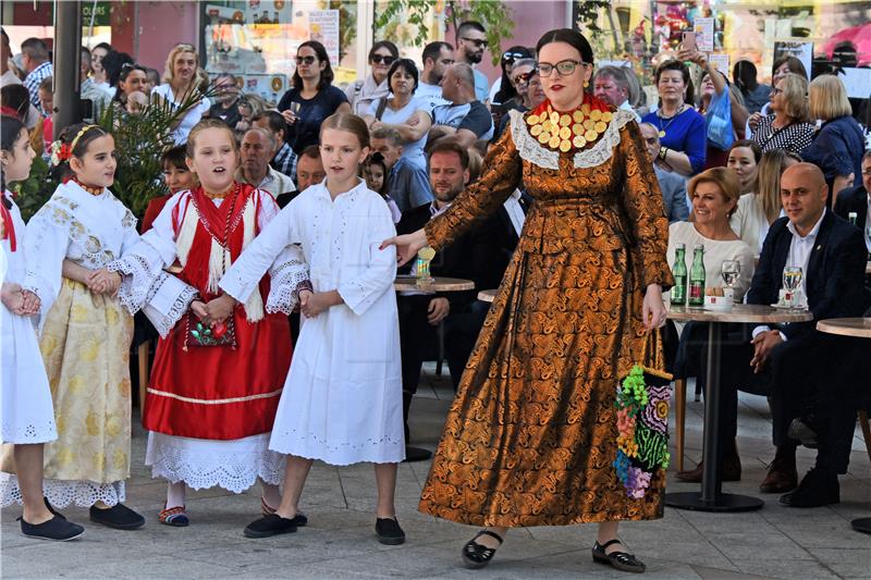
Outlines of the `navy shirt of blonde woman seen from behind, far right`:
[{"label": "navy shirt of blonde woman seen from behind, far right", "polygon": [[[864,136],[859,123],[849,115],[823,123],[810,147],[801,151],[801,159],[823,170],[825,182],[832,187],[837,175],[852,173],[852,185],[862,183],[862,155]],[[829,192],[832,199],[833,192]]]}]

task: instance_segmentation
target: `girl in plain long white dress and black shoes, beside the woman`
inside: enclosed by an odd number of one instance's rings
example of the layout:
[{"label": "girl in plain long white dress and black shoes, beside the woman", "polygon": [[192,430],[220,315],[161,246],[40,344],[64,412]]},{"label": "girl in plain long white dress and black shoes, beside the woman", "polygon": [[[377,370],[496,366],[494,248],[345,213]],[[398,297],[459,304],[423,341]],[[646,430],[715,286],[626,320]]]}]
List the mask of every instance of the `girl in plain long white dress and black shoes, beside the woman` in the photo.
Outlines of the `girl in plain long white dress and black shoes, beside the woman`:
[{"label": "girl in plain long white dress and black shoes, beside the woman", "polygon": [[291,201],[220,283],[229,296],[247,300],[275,257],[295,245],[311,284],[298,293],[305,323],[269,444],[287,454],[281,506],[250,523],[245,535],[296,531],[314,459],[371,461],[376,532],[381,543],[401,544],[405,534],[393,505],[396,464],[405,457],[396,255],[379,249],[395,229],[384,200],[357,176],[369,152],[365,122],[336,113],[321,125],[320,143],[327,178]]}]

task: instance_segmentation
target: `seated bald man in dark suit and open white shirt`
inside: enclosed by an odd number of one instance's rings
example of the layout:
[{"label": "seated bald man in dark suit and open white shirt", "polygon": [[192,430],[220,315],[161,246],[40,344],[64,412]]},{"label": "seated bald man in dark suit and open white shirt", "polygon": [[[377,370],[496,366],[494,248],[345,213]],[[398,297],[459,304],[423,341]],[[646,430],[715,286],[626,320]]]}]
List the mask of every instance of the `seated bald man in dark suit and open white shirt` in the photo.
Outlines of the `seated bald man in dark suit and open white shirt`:
[{"label": "seated bald man in dark suit and open white shirt", "polygon": [[[866,248],[856,227],[825,209],[827,195],[823,173],[813,164],[798,163],[783,173],[781,201],[786,218],[771,225],[747,293],[748,304],[774,304],[784,267],[800,267],[805,273],[801,294],[813,320],[756,326],[751,342],[726,344],[722,351],[721,436],[734,436],[738,387],[770,393],[777,451],[760,491],[795,489],[781,497],[781,503],[793,507],[838,502],[837,474],[846,472],[856,423],[859,381],[834,380],[831,366],[844,343],[817,331],[815,324],[826,318],[861,316],[868,304],[862,287]],[[796,489],[799,441],[790,424],[802,417],[815,418],[811,427],[819,451],[815,467]]]}]

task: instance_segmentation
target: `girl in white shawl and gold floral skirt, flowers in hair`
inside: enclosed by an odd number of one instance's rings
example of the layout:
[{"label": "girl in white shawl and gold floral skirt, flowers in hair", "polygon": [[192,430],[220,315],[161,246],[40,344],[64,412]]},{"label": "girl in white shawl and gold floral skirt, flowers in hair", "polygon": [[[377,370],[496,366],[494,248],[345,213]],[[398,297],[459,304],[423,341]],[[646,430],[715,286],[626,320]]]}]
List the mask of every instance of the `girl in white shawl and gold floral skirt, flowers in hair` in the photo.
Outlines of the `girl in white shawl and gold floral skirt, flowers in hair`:
[{"label": "girl in white shawl and gold floral skirt, flowers in hair", "polygon": [[[40,305],[40,340],[58,440],[46,444],[44,488],[52,505],[90,506],[90,519],[131,530],[145,519],[124,506],[130,477],[130,344],[133,318],[115,297],[121,276],[106,270],[135,244],[136,219],[109,190],[114,139],[73,125],[52,145],[64,180],[30,219],[22,283]],[[3,470],[12,465],[4,449]],[[7,482],[3,503],[19,495]]]}]

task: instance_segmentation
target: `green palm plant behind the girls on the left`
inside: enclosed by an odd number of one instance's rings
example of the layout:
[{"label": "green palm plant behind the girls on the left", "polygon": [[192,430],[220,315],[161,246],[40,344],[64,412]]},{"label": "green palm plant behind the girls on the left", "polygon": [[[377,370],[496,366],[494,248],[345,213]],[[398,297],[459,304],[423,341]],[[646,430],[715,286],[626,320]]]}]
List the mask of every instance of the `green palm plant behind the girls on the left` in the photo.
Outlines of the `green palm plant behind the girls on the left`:
[{"label": "green palm plant behind the girls on the left", "polygon": [[[118,156],[115,182],[110,189],[137,218],[143,217],[148,201],[167,193],[160,156],[174,145],[173,127],[204,96],[213,94],[210,89],[205,95],[187,95],[179,107],[155,100],[135,114],[115,106],[106,108],[98,124],[114,137]],[[34,159],[27,180],[12,186],[25,221],[48,201],[57,187],[46,161],[40,157]]]}]

